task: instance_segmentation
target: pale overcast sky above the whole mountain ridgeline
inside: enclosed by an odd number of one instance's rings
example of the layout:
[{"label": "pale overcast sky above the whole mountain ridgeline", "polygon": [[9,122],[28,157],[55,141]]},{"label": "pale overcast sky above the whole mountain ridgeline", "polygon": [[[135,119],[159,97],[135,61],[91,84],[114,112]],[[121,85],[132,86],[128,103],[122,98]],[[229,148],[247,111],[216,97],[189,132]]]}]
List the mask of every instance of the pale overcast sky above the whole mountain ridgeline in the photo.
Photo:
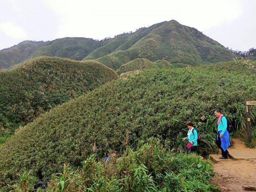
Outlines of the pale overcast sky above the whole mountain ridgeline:
[{"label": "pale overcast sky above the whole mountain ridgeline", "polygon": [[162,21],[233,50],[256,48],[256,0],[0,0],[0,49],[25,40],[113,38]]}]

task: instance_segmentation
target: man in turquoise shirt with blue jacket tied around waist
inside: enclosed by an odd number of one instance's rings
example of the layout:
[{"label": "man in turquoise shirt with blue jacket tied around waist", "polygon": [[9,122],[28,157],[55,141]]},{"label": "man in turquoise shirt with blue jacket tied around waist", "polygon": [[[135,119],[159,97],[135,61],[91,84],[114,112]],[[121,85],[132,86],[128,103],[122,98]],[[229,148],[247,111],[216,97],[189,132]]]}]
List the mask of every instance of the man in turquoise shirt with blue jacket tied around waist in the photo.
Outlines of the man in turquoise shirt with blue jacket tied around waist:
[{"label": "man in turquoise shirt with blue jacket tied around waist", "polygon": [[218,148],[221,149],[222,156],[219,158],[227,159],[227,156],[228,156],[227,148],[228,146],[230,146],[229,133],[227,131],[227,119],[225,116],[223,116],[223,114],[221,114],[220,109],[215,109],[214,115],[218,118],[217,120],[218,131],[217,131],[215,142]]}]

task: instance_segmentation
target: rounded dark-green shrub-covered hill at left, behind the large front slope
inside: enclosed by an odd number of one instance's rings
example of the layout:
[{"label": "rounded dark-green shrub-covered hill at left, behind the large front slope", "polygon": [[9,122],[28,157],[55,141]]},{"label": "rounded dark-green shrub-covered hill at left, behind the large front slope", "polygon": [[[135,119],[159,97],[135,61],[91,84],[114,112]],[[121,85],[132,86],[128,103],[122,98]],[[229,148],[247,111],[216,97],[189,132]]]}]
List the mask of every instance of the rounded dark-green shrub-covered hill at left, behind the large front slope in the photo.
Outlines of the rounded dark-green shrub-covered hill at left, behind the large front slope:
[{"label": "rounded dark-green shrub-covered hill at left, behind the large front slope", "polygon": [[40,57],[0,72],[0,125],[30,122],[70,99],[117,79],[96,61]]}]

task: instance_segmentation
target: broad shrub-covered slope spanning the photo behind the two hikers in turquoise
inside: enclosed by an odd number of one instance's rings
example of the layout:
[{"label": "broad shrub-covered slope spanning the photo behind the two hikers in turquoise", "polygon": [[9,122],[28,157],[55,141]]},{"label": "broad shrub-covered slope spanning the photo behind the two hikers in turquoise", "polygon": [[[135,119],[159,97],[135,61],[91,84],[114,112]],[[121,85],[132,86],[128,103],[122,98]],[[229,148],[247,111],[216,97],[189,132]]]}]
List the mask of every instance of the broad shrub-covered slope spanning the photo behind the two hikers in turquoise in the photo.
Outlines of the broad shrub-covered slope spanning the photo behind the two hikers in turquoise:
[{"label": "broad shrub-covered slope spanning the photo behind the two hikers in turquoise", "polygon": [[[111,148],[122,153],[127,143],[134,146],[147,137],[181,149],[189,120],[201,133],[201,150],[209,152],[215,142],[213,109],[221,108],[240,128],[244,98],[256,99],[256,69],[251,64],[232,61],[144,71],[59,105],[0,146],[0,186],[17,182],[24,170],[47,179],[61,172],[63,163],[81,166],[94,144],[97,157]],[[252,108],[254,128],[255,116]]]}]

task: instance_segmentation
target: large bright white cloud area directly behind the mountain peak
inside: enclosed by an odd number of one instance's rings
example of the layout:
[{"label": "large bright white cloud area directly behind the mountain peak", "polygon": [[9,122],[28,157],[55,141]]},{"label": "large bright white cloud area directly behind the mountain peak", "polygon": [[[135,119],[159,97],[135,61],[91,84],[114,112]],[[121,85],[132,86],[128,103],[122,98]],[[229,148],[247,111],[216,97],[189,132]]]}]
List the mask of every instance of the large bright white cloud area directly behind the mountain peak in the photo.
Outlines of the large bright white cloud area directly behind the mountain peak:
[{"label": "large bright white cloud area directly behind the mountain peak", "polygon": [[202,31],[241,15],[238,0],[46,0],[58,13],[58,38],[113,37],[165,20]]}]

